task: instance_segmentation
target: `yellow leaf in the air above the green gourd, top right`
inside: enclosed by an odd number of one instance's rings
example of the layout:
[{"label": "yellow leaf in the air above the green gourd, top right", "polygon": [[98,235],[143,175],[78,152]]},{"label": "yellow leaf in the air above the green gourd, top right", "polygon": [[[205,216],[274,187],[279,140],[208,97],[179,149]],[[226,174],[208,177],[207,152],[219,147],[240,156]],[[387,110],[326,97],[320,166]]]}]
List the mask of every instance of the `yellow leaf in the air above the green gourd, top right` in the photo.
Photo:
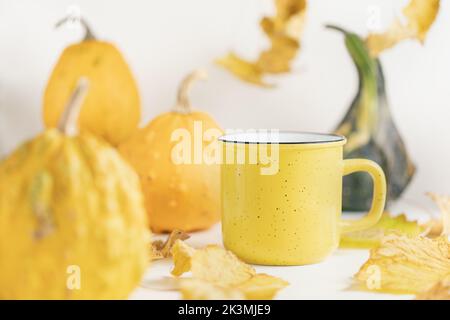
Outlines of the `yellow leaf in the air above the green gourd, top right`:
[{"label": "yellow leaf in the air above the green gourd, top right", "polygon": [[439,5],[439,0],[411,0],[403,9],[406,24],[396,19],[385,32],[370,34],[367,37],[366,43],[371,55],[376,57],[381,51],[405,39],[418,39],[423,42],[436,18]]}]

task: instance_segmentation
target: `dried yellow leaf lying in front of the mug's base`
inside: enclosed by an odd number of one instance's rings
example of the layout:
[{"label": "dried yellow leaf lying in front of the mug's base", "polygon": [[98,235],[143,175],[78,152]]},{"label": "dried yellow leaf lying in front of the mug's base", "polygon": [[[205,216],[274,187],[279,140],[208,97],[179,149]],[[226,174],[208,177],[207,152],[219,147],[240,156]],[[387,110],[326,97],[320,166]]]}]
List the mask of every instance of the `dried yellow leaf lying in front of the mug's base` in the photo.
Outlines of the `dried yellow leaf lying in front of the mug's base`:
[{"label": "dried yellow leaf lying in front of the mug's base", "polygon": [[177,241],[172,249],[174,270],[179,276],[190,271],[192,278],[180,279],[185,299],[272,299],[288,283],[277,277],[256,274],[255,269],[232,252],[216,245],[193,249]]}]

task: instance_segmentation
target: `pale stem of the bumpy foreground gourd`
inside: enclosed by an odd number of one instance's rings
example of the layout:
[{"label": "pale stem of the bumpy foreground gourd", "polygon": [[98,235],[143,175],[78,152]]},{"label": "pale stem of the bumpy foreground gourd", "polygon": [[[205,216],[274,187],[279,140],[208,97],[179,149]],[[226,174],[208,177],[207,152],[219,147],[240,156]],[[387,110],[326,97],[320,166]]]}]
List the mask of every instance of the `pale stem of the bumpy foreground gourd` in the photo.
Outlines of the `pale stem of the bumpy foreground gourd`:
[{"label": "pale stem of the bumpy foreground gourd", "polygon": [[87,78],[80,78],[64,108],[64,112],[58,124],[58,130],[67,136],[74,136],[78,133],[78,115],[80,114],[81,105],[86,97],[88,88],[89,81]]}]

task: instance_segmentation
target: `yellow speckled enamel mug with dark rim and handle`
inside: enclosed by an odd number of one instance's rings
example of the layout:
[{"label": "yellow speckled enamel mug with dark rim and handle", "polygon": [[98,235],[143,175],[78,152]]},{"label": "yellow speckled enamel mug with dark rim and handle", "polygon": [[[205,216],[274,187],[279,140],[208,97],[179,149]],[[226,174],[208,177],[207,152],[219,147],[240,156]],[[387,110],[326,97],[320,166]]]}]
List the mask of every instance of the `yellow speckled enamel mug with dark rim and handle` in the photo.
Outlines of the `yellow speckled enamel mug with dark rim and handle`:
[{"label": "yellow speckled enamel mug with dark rim and handle", "polygon": [[[320,262],[342,233],[369,228],[383,213],[382,169],[370,160],[343,160],[342,136],[277,131],[227,134],[219,141],[223,241],[248,263]],[[342,178],[358,171],[373,178],[372,208],[359,220],[343,220]]]}]

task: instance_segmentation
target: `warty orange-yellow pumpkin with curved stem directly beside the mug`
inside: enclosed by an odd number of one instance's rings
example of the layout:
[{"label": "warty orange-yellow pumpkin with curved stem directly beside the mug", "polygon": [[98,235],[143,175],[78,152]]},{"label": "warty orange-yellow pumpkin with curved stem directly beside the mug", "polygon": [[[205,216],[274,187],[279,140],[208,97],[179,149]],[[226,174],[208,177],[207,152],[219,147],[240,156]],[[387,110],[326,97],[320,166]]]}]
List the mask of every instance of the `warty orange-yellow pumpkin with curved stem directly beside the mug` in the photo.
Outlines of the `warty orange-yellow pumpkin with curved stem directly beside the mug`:
[{"label": "warty orange-yellow pumpkin with curved stem directly beside the mug", "polygon": [[[208,114],[192,110],[187,98],[193,81],[202,76],[200,71],[189,75],[180,86],[175,108],[157,116],[119,146],[141,178],[150,226],[155,232],[206,229],[220,218],[219,164],[194,163],[195,159],[179,164],[173,159],[179,141],[174,141],[172,135],[177,130],[188,133],[192,139],[201,139],[203,149],[217,143],[216,138],[222,133]],[[215,138],[207,141],[199,136],[199,126]],[[191,142],[194,146],[195,142]],[[195,150],[192,156],[194,153]]]}]

